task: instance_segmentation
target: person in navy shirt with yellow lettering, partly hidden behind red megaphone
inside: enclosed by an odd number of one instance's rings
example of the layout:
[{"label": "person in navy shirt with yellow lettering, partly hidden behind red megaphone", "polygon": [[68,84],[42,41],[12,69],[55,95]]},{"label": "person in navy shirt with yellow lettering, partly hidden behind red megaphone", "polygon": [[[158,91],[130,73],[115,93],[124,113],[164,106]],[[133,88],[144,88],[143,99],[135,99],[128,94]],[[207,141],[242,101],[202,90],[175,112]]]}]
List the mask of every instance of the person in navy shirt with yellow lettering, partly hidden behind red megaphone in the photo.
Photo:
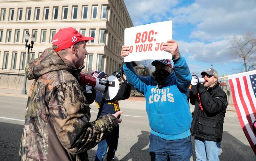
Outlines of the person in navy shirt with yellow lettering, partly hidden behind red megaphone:
[{"label": "person in navy shirt with yellow lettering, partly hidden behind red megaphone", "polygon": [[[101,71],[94,71],[93,73],[91,73],[91,75],[93,77],[100,78],[100,79],[106,79],[108,77],[107,73],[101,72]],[[123,75],[123,77],[124,79],[126,79],[125,75]],[[129,98],[130,93],[131,93],[131,86],[125,82],[121,83],[116,97],[113,98],[112,100],[105,100],[105,103],[102,108],[102,112],[100,114],[100,118],[104,115],[107,115],[108,113],[114,114],[117,111],[120,111],[118,100],[124,100]],[[102,97],[103,97],[102,93],[97,91],[95,103],[97,104],[98,108],[100,108]],[[120,115],[119,115],[119,118],[120,118]],[[118,138],[119,138],[119,126],[117,125],[116,127],[113,128],[112,132],[107,136],[107,138],[98,144],[95,161],[103,160],[103,157],[107,152],[107,148],[108,148],[108,153],[106,157],[107,161],[114,160],[115,152],[118,144]]]}]

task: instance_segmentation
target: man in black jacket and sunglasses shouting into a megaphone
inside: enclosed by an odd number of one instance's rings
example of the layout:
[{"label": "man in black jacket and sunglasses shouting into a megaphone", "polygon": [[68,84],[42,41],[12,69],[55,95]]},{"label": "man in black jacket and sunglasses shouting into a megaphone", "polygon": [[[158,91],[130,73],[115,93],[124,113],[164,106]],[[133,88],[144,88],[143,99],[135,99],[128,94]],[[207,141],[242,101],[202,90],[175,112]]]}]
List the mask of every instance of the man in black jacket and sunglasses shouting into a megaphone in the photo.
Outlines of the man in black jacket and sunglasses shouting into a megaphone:
[{"label": "man in black jacket and sunglasses shouting into a megaphone", "polygon": [[191,135],[195,136],[196,161],[219,161],[227,95],[219,87],[216,70],[208,68],[201,75],[206,81],[190,97],[195,105]]}]

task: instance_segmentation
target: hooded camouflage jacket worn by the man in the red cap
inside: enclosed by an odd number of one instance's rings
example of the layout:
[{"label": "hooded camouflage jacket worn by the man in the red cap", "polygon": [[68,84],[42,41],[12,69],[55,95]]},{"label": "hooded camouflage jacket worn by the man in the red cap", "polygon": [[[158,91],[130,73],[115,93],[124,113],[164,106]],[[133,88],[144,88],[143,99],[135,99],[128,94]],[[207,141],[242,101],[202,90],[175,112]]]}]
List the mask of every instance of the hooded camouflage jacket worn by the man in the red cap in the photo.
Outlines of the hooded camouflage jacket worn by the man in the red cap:
[{"label": "hooded camouflage jacket worn by the man in the red cap", "polygon": [[111,114],[89,122],[90,107],[76,79],[84,68],[69,68],[52,49],[26,66],[33,82],[26,109],[19,160],[88,160],[86,150],[110,133]]}]

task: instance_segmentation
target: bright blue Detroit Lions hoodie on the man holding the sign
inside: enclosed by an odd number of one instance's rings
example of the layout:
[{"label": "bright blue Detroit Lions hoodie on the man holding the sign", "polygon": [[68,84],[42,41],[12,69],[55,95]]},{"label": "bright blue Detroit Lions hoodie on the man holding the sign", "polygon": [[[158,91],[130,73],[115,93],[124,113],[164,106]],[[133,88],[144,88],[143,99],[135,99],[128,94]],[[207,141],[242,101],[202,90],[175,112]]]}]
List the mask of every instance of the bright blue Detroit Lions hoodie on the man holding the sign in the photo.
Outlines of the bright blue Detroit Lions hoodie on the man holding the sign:
[{"label": "bright blue Detroit Lions hoodie on the man holding the sign", "polygon": [[172,59],[173,73],[162,88],[157,87],[154,77],[138,76],[132,63],[124,63],[123,69],[128,83],[146,97],[151,133],[165,140],[178,140],[190,136],[192,116],[187,100],[191,74],[185,58]]}]

